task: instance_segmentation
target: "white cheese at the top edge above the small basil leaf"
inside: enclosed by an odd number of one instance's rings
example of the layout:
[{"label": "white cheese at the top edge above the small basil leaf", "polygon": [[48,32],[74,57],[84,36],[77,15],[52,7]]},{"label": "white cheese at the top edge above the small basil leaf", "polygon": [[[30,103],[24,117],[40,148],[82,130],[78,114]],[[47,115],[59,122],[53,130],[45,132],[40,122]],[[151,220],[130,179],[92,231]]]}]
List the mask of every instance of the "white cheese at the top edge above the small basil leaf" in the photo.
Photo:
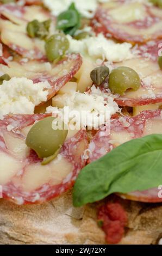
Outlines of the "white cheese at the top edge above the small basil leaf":
[{"label": "white cheese at the top edge above the small basil leaf", "polygon": [[104,3],[108,2],[108,0],[43,0],[45,6],[55,16],[67,10],[70,4],[74,3],[79,13],[88,18],[94,16],[99,2]]}]

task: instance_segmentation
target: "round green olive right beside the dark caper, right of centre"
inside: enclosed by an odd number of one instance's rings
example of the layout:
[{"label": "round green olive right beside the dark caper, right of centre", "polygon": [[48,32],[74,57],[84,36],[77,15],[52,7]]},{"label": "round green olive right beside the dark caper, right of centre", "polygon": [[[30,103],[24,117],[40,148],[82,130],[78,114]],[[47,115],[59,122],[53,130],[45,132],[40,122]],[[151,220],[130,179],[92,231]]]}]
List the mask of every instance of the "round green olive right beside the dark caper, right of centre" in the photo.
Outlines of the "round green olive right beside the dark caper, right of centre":
[{"label": "round green olive right beside the dark caper, right of centre", "polygon": [[127,89],[140,88],[140,77],[133,69],[120,66],[109,75],[109,88],[112,93],[124,95]]}]

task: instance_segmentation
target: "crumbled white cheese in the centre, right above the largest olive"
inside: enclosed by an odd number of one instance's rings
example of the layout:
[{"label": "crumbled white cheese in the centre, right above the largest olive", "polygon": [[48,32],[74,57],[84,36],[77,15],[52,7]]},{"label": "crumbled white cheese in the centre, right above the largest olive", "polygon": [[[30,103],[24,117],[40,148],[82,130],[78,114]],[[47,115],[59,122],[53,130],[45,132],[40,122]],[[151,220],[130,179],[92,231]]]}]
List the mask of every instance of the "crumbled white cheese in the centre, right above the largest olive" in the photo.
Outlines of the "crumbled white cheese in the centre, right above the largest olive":
[{"label": "crumbled white cheese in the centre, right above the largest olive", "polygon": [[64,121],[67,120],[65,123],[70,123],[73,120],[73,123],[78,125],[78,129],[84,129],[86,126],[97,129],[107,123],[109,121],[107,119],[110,119],[111,115],[120,112],[120,108],[113,96],[92,86],[90,92],[69,94],[65,99],[64,108],[58,109],[50,106],[46,112],[59,114]]}]

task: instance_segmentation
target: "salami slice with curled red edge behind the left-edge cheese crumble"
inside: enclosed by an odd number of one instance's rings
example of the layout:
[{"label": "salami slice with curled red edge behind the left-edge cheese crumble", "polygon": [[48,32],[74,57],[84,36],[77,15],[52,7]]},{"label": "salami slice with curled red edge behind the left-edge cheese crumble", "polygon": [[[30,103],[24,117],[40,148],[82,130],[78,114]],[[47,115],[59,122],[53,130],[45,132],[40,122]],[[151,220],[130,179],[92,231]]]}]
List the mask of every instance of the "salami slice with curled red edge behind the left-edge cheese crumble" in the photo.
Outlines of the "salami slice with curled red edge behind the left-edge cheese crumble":
[{"label": "salami slice with curled red edge behind the left-edge cheese crumble", "polygon": [[68,54],[57,64],[30,60],[29,62],[8,62],[8,66],[0,64],[0,71],[10,77],[27,77],[34,83],[48,81],[51,88],[48,89],[47,100],[51,99],[82,66],[80,54]]}]

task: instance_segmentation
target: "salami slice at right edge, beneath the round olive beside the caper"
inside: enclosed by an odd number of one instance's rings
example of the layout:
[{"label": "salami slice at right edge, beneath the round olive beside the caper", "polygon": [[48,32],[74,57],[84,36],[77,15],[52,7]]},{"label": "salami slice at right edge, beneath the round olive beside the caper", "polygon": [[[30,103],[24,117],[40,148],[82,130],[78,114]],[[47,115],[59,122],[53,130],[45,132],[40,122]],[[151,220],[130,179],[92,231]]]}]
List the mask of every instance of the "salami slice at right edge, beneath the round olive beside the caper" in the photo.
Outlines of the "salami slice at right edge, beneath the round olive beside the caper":
[{"label": "salami slice at right edge, beneath the round olive beside the caper", "polygon": [[162,71],[158,65],[158,53],[162,40],[149,41],[136,48],[138,56],[116,63],[118,66],[127,66],[134,69],[141,78],[141,87],[136,90],[127,90],[124,96],[117,95],[116,102],[120,106],[135,107],[162,102]]}]

